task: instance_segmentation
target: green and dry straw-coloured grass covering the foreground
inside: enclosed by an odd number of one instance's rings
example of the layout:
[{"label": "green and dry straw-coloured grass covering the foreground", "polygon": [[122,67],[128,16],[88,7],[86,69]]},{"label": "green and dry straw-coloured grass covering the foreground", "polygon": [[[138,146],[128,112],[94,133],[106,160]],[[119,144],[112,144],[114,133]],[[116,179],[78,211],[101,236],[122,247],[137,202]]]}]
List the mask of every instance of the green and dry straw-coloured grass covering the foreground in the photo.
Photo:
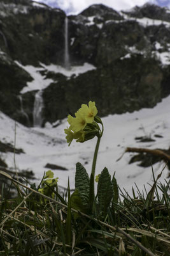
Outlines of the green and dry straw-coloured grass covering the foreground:
[{"label": "green and dry straw-coloured grass covering the foreground", "polygon": [[55,184],[50,197],[0,173],[17,188],[10,199],[1,191],[0,255],[170,255],[170,182],[154,178],[149,193],[137,188],[133,196],[118,188],[106,212],[96,197],[89,214],[72,208],[69,185],[59,195]]}]

